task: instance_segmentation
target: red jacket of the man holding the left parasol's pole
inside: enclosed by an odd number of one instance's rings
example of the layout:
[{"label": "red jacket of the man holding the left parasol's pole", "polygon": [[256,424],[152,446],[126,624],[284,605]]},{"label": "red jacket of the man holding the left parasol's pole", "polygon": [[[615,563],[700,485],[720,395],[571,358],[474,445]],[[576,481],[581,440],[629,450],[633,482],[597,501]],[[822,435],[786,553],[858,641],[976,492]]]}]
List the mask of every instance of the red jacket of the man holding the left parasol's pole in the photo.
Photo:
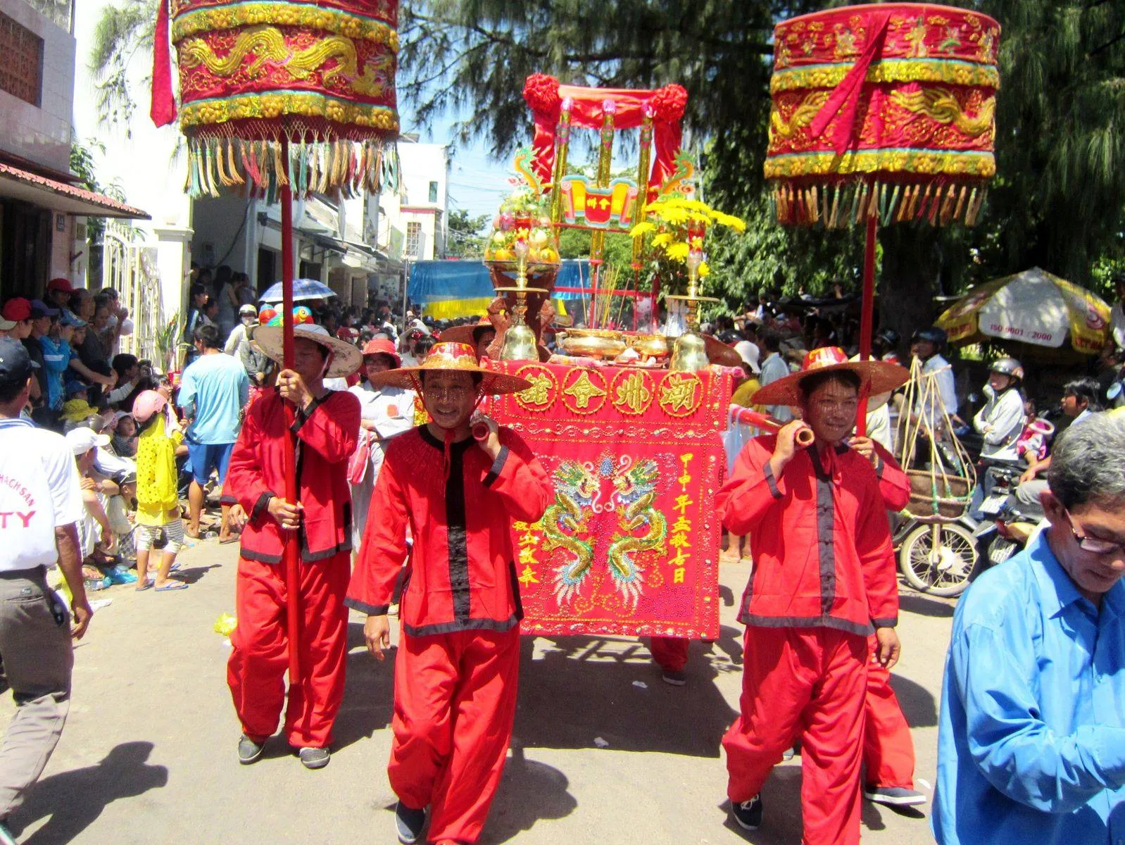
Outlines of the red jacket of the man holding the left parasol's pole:
[{"label": "red jacket of the man holding the left parasol's pole", "polygon": [[[298,411],[294,419],[297,489],[305,509],[302,560],[322,560],[351,550],[348,459],[356,451],[359,415],[359,399],[334,390],[307,412]],[[285,497],[285,407],[273,389],[246,411],[223,486],[223,502],[241,504],[249,518],[242,530],[242,556],[248,560],[281,563],[284,532],[267,505],[271,496]]]}]

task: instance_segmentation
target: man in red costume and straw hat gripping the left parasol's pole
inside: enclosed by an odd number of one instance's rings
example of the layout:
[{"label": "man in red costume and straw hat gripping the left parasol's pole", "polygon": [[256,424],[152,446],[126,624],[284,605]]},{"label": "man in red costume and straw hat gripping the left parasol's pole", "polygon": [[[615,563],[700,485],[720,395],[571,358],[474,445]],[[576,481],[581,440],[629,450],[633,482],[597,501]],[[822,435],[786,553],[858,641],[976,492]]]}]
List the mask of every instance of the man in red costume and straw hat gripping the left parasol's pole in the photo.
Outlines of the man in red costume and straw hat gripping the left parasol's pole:
[{"label": "man in red costume and straw hat gripping the left parasol's pole", "polygon": [[[285,732],[306,768],[328,764],[332,723],[344,691],[348,610],[344,593],[351,564],[351,494],[348,459],[356,451],[359,401],[330,390],[325,378],[351,375],[359,350],[328,335],[320,325],[294,330],[294,368],[278,376],[278,389],[250,405],[231,455],[224,501],[237,505],[245,520],[235,586],[237,628],[231,635],[227,684],[242,722],[238,762],[253,763],[278,726],[286,703],[284,677],[292,644],[286,605],[300,604],[300,681],[290,678]],[[261,350],[281,356],[281,327],[254,333]],[[299,502],[285,496],[285,401],[296,407],[292,425],[297,449]],[[286,536],[298,532],[299,591],[287,594],[282,565]]]}]

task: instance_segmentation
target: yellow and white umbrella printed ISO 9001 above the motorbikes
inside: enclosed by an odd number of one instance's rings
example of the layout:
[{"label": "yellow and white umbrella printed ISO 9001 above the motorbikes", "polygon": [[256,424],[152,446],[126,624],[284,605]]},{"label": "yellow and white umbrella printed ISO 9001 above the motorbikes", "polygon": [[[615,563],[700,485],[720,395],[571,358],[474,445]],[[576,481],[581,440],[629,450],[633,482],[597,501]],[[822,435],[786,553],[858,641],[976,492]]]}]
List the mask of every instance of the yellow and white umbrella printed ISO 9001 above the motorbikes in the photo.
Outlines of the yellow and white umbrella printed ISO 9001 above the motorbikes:
[{"label": "yellow and white umbrella printed ISO 9001 above the motorbikes", "polygon": [[1109,306],[1095,294],[1038,267],[987,281],[954,303],[937,324],[951,343],[982,335],[1098,354],[1109,338]]}]

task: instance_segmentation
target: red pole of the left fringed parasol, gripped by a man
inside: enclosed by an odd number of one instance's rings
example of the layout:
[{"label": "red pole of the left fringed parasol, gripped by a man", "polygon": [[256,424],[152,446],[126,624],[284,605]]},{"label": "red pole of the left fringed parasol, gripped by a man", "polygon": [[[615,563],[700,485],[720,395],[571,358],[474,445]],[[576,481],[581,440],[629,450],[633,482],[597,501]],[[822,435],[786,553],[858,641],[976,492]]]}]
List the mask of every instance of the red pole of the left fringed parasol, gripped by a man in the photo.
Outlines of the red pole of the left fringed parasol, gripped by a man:
[{"label": "red pole of the left fringed parasol, gripped by a man", "polygon": [[[281,338],[282,366],[292,369],[292,191],[289,188],[289,142],[281,137],[281,162],[285,173],[279,188],[281,200]],[[297,435],[292,432],[294,406],[285,403],[285,498],[297,502]],[[300,632],[300,549],[296,531],[285,532],[286,620],[289,637],[289,686],[300,683],[300,657],[297,653]]]}]

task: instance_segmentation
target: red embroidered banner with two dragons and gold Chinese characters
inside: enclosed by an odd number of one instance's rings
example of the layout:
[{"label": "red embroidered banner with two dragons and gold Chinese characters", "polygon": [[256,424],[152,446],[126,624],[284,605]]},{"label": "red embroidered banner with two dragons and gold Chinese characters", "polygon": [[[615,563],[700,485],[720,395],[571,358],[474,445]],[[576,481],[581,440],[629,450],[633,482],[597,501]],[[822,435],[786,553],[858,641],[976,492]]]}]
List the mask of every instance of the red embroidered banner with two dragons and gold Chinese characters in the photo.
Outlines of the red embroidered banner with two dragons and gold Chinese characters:
[{"label": "red embroidered banner with two dragons and gold Chinese characters", "polygon": [[717,637],[730,379],[504,361],[530,389],[492,401],[556,498],[514,547],[525,633]]}]

